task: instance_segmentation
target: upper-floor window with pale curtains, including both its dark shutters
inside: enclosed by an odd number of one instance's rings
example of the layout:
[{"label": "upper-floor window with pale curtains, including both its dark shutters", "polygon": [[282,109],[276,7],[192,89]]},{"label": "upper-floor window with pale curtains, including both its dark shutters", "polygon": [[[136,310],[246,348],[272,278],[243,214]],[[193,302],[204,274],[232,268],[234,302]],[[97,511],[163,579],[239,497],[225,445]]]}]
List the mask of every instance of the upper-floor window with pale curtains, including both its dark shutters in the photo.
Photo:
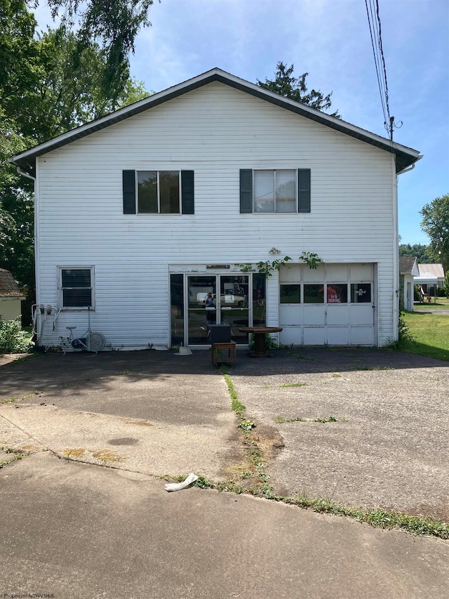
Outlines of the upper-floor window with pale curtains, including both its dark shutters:
[{"label": "upper-floor window with pale curtains, including both its dark shutters", "polygon": [[310,212],[310,169],[241,169],[240,212]]}]

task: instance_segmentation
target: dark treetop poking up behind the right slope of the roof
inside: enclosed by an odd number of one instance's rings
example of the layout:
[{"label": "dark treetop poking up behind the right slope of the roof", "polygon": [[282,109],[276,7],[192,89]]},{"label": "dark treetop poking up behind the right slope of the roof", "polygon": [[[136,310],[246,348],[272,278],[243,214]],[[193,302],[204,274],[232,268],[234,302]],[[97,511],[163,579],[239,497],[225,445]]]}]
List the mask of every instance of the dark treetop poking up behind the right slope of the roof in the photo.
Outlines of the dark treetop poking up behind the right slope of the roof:
[{"label": "dark treetop poking up behind the right slope of the roof", "polygon": [[[287,67],[283,62],[279,61],[276,65],[275,78],[265,78],[264,82],[257,79],[257,84],[264,89],[279,93],[279,96],[285,96],[286,98],[290,98],[290,100],[295,100],[311,108],[316,108],[316,110],[329,110],[332,105],[330,101],[332,92],[324,96],[321,91],[316,91],[315,89],[309,91],[306,84],[309,73],[303,73],[300,77],[293,77],[293,69],[294,65]],[[340,118],[338,111],[330,113],[330,116]]]}]

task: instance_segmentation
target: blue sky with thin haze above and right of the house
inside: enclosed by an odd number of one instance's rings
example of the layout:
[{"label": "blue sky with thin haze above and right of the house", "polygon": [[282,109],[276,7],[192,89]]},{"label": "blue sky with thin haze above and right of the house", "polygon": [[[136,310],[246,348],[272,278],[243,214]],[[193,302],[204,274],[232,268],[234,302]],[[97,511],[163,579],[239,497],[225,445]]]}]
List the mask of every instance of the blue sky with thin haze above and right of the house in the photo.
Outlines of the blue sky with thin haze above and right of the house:
[{"label": "blue sky with thin haze above and right of the house", "polygon": [[[403,243],[429,239],[420,209],[449,193],[449,0],[379,0],[389,107],[398,143],[424,157],[399,177]],[[41,5],[40,25],[48,22]],[[161,91],[213,67],[255,82],[276,62],[333,91],[345,121],[387,136],[365,0],[157,0],[130,58],[131,74]]]}]

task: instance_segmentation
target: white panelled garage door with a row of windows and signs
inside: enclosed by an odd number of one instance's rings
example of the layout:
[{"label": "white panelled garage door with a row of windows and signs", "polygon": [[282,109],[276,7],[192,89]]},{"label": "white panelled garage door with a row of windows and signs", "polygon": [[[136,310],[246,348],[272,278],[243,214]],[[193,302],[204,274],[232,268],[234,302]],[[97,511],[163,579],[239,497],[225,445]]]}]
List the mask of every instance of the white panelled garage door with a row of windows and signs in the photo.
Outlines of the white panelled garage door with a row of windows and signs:
[{"label": "white panelled garage door with a row of windows and signs", "polygon": [[292,265],[279,272],[284,345],[375,345],[374,265]]}]

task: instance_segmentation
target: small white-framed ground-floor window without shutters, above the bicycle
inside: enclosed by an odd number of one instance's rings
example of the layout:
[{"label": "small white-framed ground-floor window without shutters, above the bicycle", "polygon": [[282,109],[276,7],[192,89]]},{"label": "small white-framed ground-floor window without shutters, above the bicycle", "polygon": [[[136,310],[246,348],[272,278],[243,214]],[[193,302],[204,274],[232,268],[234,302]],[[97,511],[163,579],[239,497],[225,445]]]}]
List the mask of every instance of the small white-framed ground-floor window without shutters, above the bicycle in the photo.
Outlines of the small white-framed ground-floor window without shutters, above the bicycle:
[{"label": "small white-framed ground-floor window without shutters, above the bicycle", "polygon": [[93,266],[58,266],[58,278],[60,308],[95,309]]}]

